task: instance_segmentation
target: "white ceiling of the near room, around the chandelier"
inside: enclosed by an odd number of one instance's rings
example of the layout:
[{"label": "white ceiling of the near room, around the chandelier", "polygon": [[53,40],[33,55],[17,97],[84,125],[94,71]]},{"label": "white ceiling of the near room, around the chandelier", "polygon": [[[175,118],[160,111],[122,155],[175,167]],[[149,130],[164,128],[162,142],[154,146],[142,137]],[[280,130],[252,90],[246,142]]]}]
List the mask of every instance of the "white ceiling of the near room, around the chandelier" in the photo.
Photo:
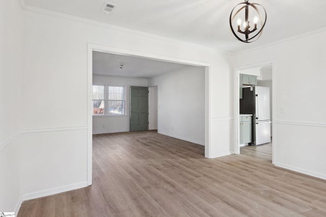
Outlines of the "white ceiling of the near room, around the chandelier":
[{"label": "white ceiling of the near room, around the chandelier", "polygon": [[[232,8],[244,0],[24,0],[26,5],[83,17],[176,40],[238,52],[326,26],[325,0],[250,0],[261,4],[267,22],[260,39],[246,44],[229,30]],[[116,4],[109,15],[104,2]]]}]

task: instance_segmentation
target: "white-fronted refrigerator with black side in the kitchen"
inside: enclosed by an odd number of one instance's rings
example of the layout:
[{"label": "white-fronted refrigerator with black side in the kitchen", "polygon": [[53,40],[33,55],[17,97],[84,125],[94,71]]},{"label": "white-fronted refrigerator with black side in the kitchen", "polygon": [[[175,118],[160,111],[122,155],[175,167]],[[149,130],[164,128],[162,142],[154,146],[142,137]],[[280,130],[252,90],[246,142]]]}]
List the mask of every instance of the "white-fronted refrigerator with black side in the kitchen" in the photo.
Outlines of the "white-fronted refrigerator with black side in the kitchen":
[{"label": "white-fronted refrigerator with black side in the kitchen", "polygon": [[269,102],[269,87],[251,86],[242,89],[240,113],[253,115],[251,145],[270,142]]}]

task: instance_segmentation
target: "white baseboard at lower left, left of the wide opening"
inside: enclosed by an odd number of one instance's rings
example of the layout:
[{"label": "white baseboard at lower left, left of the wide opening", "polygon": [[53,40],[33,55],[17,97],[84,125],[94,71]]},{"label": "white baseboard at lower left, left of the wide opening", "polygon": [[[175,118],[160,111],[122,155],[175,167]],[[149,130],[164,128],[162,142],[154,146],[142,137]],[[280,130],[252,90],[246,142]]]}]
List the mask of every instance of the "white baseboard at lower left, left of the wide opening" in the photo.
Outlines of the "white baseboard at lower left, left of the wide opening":
[{"label": "white baseboard at lower left, left of the wide opening", "polygon": [[67,192],[75,189],[80,189],[80,188],[85,188],[87,187],[87,181],[75,183],[75,184],[68,184],[64,185],[62,187],[58,188],[53,188],[53,189],[47,189],[43,191],[38,191],[38,192],[33,192],[33,193],[28,193],[28,194],[23,194],[19,197],[18,202],[15,207],[15,215],[18,215],[19,208],[25,200],[32,200],[35,198],[40,198],[40,197],[45,197],[49,195],[54,195],[54,194],[59,194],[62,192]]}]

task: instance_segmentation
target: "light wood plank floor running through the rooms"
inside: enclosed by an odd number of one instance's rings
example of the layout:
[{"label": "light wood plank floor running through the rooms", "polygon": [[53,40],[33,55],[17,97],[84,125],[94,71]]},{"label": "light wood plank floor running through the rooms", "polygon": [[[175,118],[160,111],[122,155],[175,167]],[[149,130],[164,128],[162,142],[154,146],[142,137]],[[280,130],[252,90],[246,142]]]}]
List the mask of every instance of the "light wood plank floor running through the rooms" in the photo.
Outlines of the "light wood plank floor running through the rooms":
[{"label": "light wood plank floor running through the rooms", "polygon": [[271,165],[271,144],[204,158],[155,131],[93,137],[93,185],[25,201],[18,216],[326,216],[326,181]]}]

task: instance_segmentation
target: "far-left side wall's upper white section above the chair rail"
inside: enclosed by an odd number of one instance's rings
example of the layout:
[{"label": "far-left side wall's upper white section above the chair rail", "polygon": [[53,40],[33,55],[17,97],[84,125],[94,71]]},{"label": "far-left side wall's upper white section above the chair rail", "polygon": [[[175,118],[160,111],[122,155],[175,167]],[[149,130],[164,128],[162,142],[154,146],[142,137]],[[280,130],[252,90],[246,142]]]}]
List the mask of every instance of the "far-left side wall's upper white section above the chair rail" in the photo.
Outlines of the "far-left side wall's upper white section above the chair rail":
[{"label": "far-left side wall's upper white section above the chair rail", "polygon": [[16,1],[0,2],[0,141],[21,127],[21,9]]}]

